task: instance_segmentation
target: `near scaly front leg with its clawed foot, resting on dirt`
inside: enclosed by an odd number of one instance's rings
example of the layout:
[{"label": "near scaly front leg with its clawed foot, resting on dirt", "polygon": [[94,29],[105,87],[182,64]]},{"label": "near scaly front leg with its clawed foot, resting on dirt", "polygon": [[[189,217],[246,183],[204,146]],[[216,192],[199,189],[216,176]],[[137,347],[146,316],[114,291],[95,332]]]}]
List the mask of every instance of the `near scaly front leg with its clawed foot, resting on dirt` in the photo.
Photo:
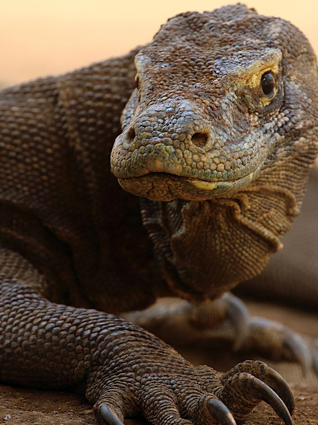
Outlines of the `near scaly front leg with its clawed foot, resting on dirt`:
[{"label": "near scaly front leg with its clawed foot, resting on dirt", "polygon": [[[142,415],[153,425],[235,425],[235,417],[247,413],[240,398],[231,404],[229,378],[223,382],[213,369],[195,368],[114,315],[48,301],[41,295],[45,278],[19,254],[1,253],[3,382],[84,391],[99,424],[122,425],[124,417]],[[253,391],[242,387],[249,411],[267,391],[265,401],[290,425],[290,389],[277,375],[269,381]]]}]

